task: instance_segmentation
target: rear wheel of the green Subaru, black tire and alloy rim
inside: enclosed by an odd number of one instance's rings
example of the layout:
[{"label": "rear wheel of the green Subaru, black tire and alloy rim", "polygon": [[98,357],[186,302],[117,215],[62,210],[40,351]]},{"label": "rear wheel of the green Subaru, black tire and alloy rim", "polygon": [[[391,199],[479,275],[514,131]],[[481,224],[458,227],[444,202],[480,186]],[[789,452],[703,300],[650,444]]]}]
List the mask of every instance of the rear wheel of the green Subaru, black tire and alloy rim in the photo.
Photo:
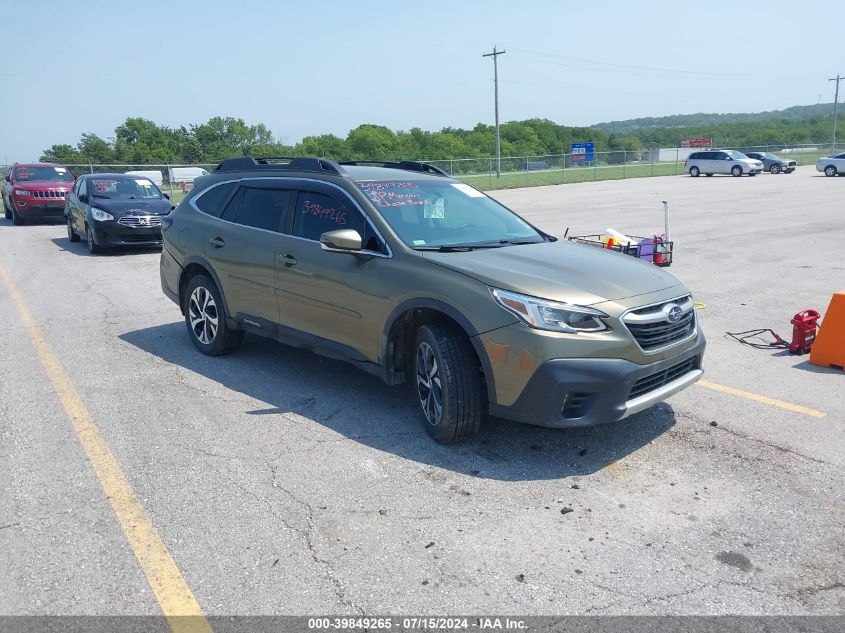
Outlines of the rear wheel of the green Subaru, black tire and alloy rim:
[{"label": "rear wheel of the green Subaru, black tire and alloy rim", "polygon": [[188,336],[203,354],[221,356],[235,351],[241,344],[244,332],[229,327],[223,298],[208,276],[191,278],[185,288],[182,305]]}]

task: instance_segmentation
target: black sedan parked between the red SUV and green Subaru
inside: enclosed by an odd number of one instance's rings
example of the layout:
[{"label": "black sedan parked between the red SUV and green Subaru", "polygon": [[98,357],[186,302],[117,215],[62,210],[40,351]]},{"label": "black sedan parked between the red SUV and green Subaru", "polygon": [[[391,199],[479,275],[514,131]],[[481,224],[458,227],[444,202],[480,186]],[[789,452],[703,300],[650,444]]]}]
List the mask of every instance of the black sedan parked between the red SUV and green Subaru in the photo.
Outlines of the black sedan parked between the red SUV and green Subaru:
[{"label": "black sedan parked between the red SUV and green Subaru", "polygon": [[80,176],[65,199],[67,236],[85,236],[88,250],[115,246],[160,246],[161,216],[173,206],[147,178],[124,174]]}]

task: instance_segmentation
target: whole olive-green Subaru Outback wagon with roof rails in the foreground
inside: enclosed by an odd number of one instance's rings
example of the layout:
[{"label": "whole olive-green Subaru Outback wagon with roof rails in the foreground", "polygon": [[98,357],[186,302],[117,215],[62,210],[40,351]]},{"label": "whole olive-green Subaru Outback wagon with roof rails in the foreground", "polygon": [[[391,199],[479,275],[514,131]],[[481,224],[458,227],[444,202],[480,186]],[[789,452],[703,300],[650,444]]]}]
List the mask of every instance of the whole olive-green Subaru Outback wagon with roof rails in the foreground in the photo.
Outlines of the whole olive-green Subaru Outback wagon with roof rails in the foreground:
[{"label": "whole olive-green Subaru Outback wagon with roof rails in the foreground", "polygon": [[165,216],[161,285],[204,354],[244,332],[411,383],[426,430],[620,420],[702,375],[676,277],[555,237],[426,163],[224,160]]}]

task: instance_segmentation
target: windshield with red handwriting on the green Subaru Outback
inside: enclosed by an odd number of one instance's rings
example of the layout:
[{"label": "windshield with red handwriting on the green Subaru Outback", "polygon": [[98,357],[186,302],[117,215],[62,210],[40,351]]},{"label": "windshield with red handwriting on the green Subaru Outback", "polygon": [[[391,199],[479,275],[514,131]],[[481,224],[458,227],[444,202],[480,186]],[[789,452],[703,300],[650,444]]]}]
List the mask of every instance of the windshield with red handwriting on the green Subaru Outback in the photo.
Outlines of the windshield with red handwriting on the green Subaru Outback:
[{"label": "windshield with red handwriting on the green Subaru Outback", "polygon": [[454,181],[359,181],[361,191],[408,246],[493,247],[545,241],[512,211]]}]

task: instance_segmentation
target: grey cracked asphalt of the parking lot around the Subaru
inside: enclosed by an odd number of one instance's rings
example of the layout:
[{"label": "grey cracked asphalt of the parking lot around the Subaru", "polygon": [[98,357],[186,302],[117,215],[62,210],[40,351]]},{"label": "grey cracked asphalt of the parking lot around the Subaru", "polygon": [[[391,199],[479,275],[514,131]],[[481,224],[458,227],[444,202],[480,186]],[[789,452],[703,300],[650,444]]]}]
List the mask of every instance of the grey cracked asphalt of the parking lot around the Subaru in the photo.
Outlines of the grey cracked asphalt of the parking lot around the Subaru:
[{"label": "grey cracked asphalt of the parking lot around the Subaru", "polygon": [[668,200],[706,386],[615,425],[490,420],[439,446],[408,389],[343,363],[249,337],[200,355],[157,252],[0,219],[0,612],[161,613],[87,428],[208,615],[843,613],[845,372],[723,334],[788,335],[845,288],[845,178],[495,197],[557,235],[650,234]]}]

